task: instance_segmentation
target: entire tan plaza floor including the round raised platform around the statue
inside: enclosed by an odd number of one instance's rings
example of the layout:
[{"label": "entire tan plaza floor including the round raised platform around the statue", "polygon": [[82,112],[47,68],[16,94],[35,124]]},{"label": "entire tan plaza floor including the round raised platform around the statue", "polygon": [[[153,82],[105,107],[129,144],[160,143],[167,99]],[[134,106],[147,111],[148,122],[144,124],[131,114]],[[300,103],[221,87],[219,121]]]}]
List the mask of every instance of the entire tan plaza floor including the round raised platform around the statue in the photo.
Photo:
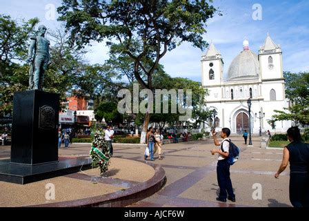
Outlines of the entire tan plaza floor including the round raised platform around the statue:
[{"label": "entire tan plaza floor including the round raised platform around the statue", "polygon": [[[144,146],[114,144],[110,169],[54,177],[31,184],[0,182],[0,206],[130,206],[130,207],[290,207],[289,170],[279,180],[274,175],[281,163],[281,148],[253,147],[242,137],[232,137],[241,148],[240,159],[230,173],[236,202],[217,202],[217,155],[212,140],[163,145],[163,160],[143,160]],[[90,144],[72,144],[59,151],[60,158],[88,157]],[[10,146],[0,147],[0,160],[10,158]],[[54,200],[46,200],[47,184],[55,188]],[[78,190],[78,191],[77,191]]]}]

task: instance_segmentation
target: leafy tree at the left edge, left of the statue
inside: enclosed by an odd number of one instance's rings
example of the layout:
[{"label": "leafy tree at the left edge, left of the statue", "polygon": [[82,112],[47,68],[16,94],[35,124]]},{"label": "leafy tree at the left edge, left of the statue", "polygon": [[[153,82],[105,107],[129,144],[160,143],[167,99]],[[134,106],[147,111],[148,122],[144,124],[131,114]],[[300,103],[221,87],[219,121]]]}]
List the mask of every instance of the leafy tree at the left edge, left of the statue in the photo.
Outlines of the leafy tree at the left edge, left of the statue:
[{"label": "leafy tree at the left edge, left of the statue", "polygon": [[28,87],[28,66],[20,62],[26,59],[28,39],[39,19],[15,21],[8,15],[0,15],[0,115],[12,113],[14,92]]}]

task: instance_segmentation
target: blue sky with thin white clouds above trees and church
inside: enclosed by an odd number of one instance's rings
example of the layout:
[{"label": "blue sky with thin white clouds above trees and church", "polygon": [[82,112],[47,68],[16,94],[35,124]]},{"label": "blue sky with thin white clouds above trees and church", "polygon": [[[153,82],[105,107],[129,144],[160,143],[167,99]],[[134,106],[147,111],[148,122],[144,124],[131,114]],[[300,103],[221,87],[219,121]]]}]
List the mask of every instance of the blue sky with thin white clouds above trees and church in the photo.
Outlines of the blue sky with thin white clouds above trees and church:
[{"label": "blue sky with thin white clouds above trees and church", "polygon": [[[309,71],[308,0],[214,0],[213,5],[223,16],[215,15],[208,20],[207,33],[203,37],[221,52],[225,75],[232,59],[243,50],[245,37],[250,42],[250,50],[257,54],[268,33],[275,44],[281,46],[284,71]],[[52,30],[61,26],[57,12],[54,18],[50,17],[52,9],[59,6],[61,0],[0,0],[0,14],[10,15],[13,19],[38,17],[40,24]],[[103,64],[108,59],[108,48],[104,43],[94,43],[88,49],[86,59],[90,64]],[[183,43],[168,52],[160,63],[172,77],[201,81],[201,56],[205,53],[206,50]]]}]

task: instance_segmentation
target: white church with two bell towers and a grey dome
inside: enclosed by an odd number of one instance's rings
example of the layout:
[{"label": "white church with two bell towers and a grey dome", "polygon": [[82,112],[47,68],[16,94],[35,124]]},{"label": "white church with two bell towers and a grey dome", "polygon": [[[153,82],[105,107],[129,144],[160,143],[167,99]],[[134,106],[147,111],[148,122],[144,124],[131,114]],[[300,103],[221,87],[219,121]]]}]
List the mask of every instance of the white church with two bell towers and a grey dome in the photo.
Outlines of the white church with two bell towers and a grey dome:
[{"label": "white church with two bell towers and a grey dome", "polygon": [[228,127],[233,134],[244,130],[249,133],[249,98],[251,133],[258,134],[260,129],[261,133],[268,130],[284,133],[291,126],[288,121],[276,122],[273,130],[267,122],[274,110],[288,107],[281,47],[269,35],[258,55],[250,50],[249,41],[243,41],[243,50],[232,60],[226,78],[223,78],[223,57],[214,44],[202,56],[201,64],[202,86],[209,91],[207,106],[217,111],[218,130]]}]

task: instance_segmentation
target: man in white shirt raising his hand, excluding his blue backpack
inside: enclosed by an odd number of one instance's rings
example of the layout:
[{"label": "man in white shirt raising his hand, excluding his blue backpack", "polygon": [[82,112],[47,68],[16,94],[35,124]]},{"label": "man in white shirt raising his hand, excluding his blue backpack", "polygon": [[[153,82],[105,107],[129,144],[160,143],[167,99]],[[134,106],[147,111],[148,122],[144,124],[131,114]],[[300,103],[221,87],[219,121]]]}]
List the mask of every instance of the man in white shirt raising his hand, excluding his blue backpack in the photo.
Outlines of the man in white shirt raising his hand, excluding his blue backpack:
[{"label": "man in white shirt raising his hand, excluding his blue backpack", "polygon": [[219,197],[216,199],[220,202],[226,202],[226,198],[235,202],[235,194],[232,187],[232,181],[230,180],[230,164],[228,164],[228,151],[230,149],[230,129],[222,128],[221,138],[222,142],[217,140],[217,133],[212,131],[212,137],[216,146],[220,146],[219,149],[212,149],[211,153],[214,155],[218,153],[218,164],[217,164],[217,180],[220,187]]}]

